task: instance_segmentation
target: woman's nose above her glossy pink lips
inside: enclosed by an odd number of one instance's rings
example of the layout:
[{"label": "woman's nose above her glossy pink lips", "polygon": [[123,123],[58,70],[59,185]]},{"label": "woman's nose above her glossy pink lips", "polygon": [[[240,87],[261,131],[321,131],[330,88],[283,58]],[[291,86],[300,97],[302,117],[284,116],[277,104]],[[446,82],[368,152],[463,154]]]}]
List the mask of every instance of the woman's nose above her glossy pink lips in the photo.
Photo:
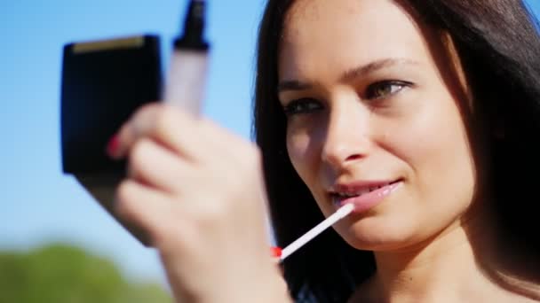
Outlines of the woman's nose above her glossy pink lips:
[{"label": "woman's nose above her glossy pink lips", "polygon": [[326,123],[322,161],[334,170],[365,158],[371,148],[369,109],[363,108],[358,101],[351,103],[332,106]]}]

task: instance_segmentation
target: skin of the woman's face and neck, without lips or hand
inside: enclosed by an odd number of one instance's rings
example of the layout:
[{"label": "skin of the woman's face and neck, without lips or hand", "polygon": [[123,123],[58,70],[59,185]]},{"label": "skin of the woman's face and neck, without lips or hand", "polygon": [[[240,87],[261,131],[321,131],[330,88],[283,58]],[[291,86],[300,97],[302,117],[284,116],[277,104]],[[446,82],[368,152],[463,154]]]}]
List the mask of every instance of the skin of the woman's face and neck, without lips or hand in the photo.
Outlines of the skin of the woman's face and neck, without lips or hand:
[{"label": "skin of the woman's face and neck, without lips or hand", "polygon": [[393,1],[300,0],[287,15],[279,57],[287,149],[322,213],[335,212],[337,183],[401,180],[336,225],[376,256],[376,275],[351,301],[532,300],[486,275],[512,254],[493,253],[501,243],[488,184],[478,182],[489,167],[475,161],[488,153],[471,140],[483,130],[470,123],[478,114],[445,38]]}]

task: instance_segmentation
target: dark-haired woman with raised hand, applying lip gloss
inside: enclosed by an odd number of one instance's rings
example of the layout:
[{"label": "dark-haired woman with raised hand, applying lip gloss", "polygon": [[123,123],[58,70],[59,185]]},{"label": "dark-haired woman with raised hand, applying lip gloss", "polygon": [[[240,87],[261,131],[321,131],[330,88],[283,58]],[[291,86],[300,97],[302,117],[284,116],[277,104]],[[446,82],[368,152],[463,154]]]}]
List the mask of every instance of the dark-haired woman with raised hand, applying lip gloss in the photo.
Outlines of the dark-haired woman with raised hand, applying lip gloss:
[{"label": "dark-haired woman with raised hand, applying lip gloss", "polygon": [[[258,151],[207,120],[141,109],[117,209],[147,229],[180,301],[540,300],[534,173],[540,41],[517,1],[273,1],[258,44]],[[234,172],[234,174],[232,173]]]}]

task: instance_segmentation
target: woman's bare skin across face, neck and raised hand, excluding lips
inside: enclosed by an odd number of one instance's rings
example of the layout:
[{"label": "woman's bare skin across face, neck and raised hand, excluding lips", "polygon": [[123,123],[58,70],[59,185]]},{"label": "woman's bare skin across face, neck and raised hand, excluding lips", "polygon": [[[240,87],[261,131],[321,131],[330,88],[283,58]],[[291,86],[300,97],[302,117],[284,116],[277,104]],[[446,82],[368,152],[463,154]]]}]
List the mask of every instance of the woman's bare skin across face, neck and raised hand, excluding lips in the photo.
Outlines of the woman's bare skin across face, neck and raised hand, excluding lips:
[{"label": "woman's bare skin across face, neck and raised hand, excluding lips", "polygon": [[[469,139],[477,129],[469,123],[475,114],[465,75],[451,43],[444,48],[435,37],[390,1],[295,3],[279,76],[309,88],[283,90],[280,99],[290,105],[308,97],[304,105],[314,107],[290,116],[290,159],[326,215],[335,210],[326,193],[333,183],[401,180],[381,204],[337,226],[345,241],[377,259],[377,274],[351,301],[528,301],[533,292],[517,291],[522,280],[486,275],[498,273],[501,260],[520,259],[496,242],[489,191],[477,182],[488,167],[474,161],[487,154]],[[437,55],[447,48],[449,56]],[[368,73],[342,76],[380,59],[385,64]],[[407,85],[368,89],[385,80]],[[391,94],[375,100],[368,97],[374,92]],[[177,301],[290,301],[268,252],[254,144],[154,104],[123,124],[108,154],[128,159],[115,211],[152,238]]]}]

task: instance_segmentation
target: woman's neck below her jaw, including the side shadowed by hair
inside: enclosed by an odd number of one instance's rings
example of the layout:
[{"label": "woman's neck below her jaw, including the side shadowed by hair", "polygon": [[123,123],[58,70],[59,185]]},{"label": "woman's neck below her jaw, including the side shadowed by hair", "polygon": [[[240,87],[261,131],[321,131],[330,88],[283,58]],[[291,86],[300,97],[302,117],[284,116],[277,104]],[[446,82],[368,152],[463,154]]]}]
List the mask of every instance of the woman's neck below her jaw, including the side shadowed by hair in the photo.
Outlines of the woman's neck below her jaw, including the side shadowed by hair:
[{"label": "woman's neck below her jaw, including the side shadowed by hair", "polygon": [[378,301],[489,301],[507,296],[486,275],[497,272],[492,222],[487,214],[470,216],[423,243],[375,253],[377,274],[371,284],[385,294],[377,296]]}]

